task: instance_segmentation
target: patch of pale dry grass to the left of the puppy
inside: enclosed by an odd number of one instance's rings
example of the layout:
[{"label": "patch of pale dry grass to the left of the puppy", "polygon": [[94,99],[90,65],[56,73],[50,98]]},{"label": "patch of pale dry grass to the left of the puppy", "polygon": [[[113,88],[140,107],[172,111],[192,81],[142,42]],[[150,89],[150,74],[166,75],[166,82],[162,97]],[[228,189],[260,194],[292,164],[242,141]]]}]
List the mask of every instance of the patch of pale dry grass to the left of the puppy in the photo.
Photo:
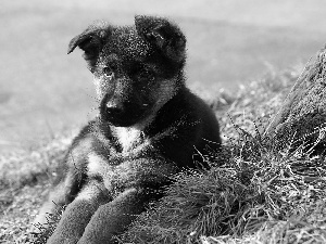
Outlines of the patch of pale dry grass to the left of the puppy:
[{"label": "patch of pale dry grass to the left of the puppy", "polygon": [[34,243],[28,234],[48,194],[52,169],[73,134],[55,137],[37,150],[0,157],[0,243]]}]

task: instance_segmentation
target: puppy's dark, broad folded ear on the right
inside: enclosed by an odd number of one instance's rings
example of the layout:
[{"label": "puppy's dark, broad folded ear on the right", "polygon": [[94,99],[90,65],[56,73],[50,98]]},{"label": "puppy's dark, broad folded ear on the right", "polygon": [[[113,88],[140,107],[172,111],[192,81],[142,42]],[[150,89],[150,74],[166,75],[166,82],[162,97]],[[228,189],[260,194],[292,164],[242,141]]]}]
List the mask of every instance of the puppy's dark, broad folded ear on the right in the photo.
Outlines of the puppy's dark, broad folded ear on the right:
[{"label": "puppy's dark, broad folded ear on the right", "polygon": [[186,37],[179,27],[166,18],[135,16],[137,33],[173,61],[183,62],[186,56]]}]

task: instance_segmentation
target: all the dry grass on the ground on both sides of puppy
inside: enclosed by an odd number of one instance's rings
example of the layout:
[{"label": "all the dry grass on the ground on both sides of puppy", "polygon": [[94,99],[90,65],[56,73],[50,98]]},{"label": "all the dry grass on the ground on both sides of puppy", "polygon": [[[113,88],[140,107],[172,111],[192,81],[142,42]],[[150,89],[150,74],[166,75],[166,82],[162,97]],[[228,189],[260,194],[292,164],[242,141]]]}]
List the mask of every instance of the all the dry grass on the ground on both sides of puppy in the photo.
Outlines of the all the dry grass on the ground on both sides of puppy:
[{"label": "all the dry grass on the ground on both sides of puppy", "polygon": [[[221,118],[223,153],[208,142],[201,153],[212,168],[176,176],[166,196],[139,216],[122,242],[325,243],[325,158],[280,151],[262,137],[298,76],[272,72],[236,97],[211,100]],[[28,221],[71,139],[1,158],[0,243],[33,243]]]}]

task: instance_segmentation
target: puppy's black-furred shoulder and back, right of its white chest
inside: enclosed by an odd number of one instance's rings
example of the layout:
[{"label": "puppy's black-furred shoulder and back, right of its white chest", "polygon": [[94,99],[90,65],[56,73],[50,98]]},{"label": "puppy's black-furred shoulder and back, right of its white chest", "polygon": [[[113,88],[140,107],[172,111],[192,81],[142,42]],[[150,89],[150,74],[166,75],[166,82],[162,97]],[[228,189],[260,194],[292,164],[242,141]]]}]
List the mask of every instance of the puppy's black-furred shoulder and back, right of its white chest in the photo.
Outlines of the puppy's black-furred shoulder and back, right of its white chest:
[{"label": "puppy's black-furred shoulder and back, right of its white chest", "polygon": [[180,166],[193,167],[193,154],[202,152],[208,142],[216,150],[221,146],[214,112],[187,88],[158,112],[147,132],[152,137],[152,145]]}]

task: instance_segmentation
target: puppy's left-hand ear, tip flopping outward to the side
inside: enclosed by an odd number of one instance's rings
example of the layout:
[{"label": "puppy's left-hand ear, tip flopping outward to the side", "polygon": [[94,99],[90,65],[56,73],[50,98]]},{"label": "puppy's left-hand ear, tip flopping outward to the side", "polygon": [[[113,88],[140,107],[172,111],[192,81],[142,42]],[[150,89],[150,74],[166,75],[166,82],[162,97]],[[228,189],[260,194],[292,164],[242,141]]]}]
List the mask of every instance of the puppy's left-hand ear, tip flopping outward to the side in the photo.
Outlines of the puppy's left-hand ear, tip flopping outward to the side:
[{"label": "puppy's left-hand ear, tip flopping outward to the side", "polygon": [[103,48],[105,39],[110,36],[112,27],[106,22],[96,22],[82,33],[74,37],[70,44],[67,53],[70,54],[79,47],[85,53],[84,59],[92,69],[97,63],[100,51]]}]

